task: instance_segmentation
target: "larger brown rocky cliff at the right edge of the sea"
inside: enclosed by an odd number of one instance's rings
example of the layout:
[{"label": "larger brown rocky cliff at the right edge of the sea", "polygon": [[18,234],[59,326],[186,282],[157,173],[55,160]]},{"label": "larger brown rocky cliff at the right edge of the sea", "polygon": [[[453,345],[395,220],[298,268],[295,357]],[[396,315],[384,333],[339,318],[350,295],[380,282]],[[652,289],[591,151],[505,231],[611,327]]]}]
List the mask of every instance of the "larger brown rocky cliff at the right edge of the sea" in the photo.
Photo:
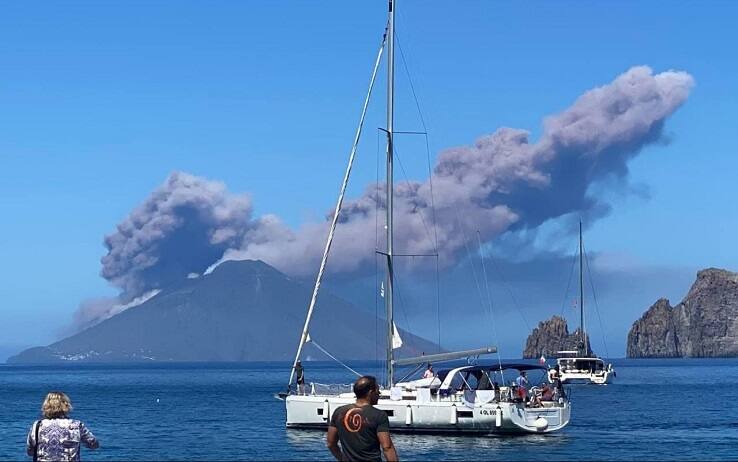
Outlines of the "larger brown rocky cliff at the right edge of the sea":
[{"label": "larger brown rocky cliff at the right edge of the sea", "polygon": [[658,300],[628,333],[629,358],[738,356],[738,273],[709,268],[677,306]]}]

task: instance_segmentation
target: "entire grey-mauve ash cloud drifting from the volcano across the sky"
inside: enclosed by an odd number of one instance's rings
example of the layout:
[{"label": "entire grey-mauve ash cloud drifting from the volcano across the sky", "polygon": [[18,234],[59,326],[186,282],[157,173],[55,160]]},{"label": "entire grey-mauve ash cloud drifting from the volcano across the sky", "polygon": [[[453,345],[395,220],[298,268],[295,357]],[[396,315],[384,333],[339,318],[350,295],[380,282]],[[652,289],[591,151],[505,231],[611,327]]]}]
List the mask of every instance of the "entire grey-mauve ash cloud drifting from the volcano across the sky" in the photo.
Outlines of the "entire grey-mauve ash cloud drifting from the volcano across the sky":
[{"label": "entire grey-mauve ash cloud drifting from the volcano across the sky", "polygon": [[[438,251],[447,265],[472,231],[490,241],[573,212],[601,216],[609,206],[590,186],[627,180],[628,161],[664,141],[665,120],[687,100],[693,84],[686,72],[633,67],[546,117],[537,142],[525,130],[500,128],[471,146],[441,152],[432,178],[395,186],[396,251],[435,252],[434,216]],[[330,271],[373,264],[383,195],[384,186],[372,184],[344,205]],[[223,260],[261,259],[293,276],[312,275],[328,226],[325,220],[291,229],[274,215],[253,218],[248,196],[173,173],[105,238],[102,276],[121,288],[125,303]]]}]

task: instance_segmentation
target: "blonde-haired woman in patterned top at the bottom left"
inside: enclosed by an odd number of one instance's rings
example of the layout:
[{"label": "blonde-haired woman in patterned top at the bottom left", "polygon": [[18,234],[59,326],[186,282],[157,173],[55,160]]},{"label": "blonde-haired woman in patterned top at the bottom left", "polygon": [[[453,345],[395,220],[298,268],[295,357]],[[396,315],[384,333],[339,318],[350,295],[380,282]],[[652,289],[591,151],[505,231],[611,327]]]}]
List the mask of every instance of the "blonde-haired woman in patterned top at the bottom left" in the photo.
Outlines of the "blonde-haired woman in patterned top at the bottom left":
[{"label": "blonde-haired woman in patterned top at the bottom left", "polygon": [[97,449],[100,443],[85,424],[69,418],[72,402],[69,396],[52,391],[41,406],[43,418],[31,426],[26,452],[34,461],[78,461],[80,445]]}]

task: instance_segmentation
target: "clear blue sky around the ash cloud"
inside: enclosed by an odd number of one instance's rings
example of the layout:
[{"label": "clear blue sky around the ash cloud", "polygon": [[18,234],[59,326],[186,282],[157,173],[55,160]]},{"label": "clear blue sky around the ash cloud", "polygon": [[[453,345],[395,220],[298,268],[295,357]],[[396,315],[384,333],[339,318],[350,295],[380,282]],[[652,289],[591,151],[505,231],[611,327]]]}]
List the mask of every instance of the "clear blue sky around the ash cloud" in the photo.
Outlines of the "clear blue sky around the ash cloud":
[{"label": "clear blue sky around the ash cloud", "polygon": [[[0,344],[47,343],[81,300],[115,294],[99,276],[103,236],[174,170],[248,192],[256,213],[292,226],[321,217],[384,10],[384,1],[4,5]],[[535,139],[544,116],[634,65],[689,72],[696,86],[667,121],[671,142],[630,163],[636,192],[611,193],[588,247],[666,275],[738,269],[738,4],[404,0],[398,10],[432,154],[501,126]],[[398,128],[419,129],[398,75]],[[354,195],[375,179],[382,124],[375,103]],[[409,175],[422,178],[424,156],[407,157]],[[688,289],[662,282],[652,293],[674,303]]]}]

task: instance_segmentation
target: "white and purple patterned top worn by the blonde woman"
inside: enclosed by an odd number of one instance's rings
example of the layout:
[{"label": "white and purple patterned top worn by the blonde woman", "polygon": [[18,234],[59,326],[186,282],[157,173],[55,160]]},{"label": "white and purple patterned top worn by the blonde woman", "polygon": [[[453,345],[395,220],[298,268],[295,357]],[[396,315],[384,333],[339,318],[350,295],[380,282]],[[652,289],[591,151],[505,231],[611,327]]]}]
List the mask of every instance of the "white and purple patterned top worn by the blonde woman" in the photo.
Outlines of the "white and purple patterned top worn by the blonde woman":
[{"label": "white and purple patterned top worn by the blonde woman", "polygon": [[[38,442],[36,441],[36,426],[38,428]],[[38,461],[78,461],[80,444],[90,449],[99,446],[95,435],[79,420],[73,419],[43,419],[37,420],[31,426],[26,439],[26,451],[33,455],[38,444]]]}]

